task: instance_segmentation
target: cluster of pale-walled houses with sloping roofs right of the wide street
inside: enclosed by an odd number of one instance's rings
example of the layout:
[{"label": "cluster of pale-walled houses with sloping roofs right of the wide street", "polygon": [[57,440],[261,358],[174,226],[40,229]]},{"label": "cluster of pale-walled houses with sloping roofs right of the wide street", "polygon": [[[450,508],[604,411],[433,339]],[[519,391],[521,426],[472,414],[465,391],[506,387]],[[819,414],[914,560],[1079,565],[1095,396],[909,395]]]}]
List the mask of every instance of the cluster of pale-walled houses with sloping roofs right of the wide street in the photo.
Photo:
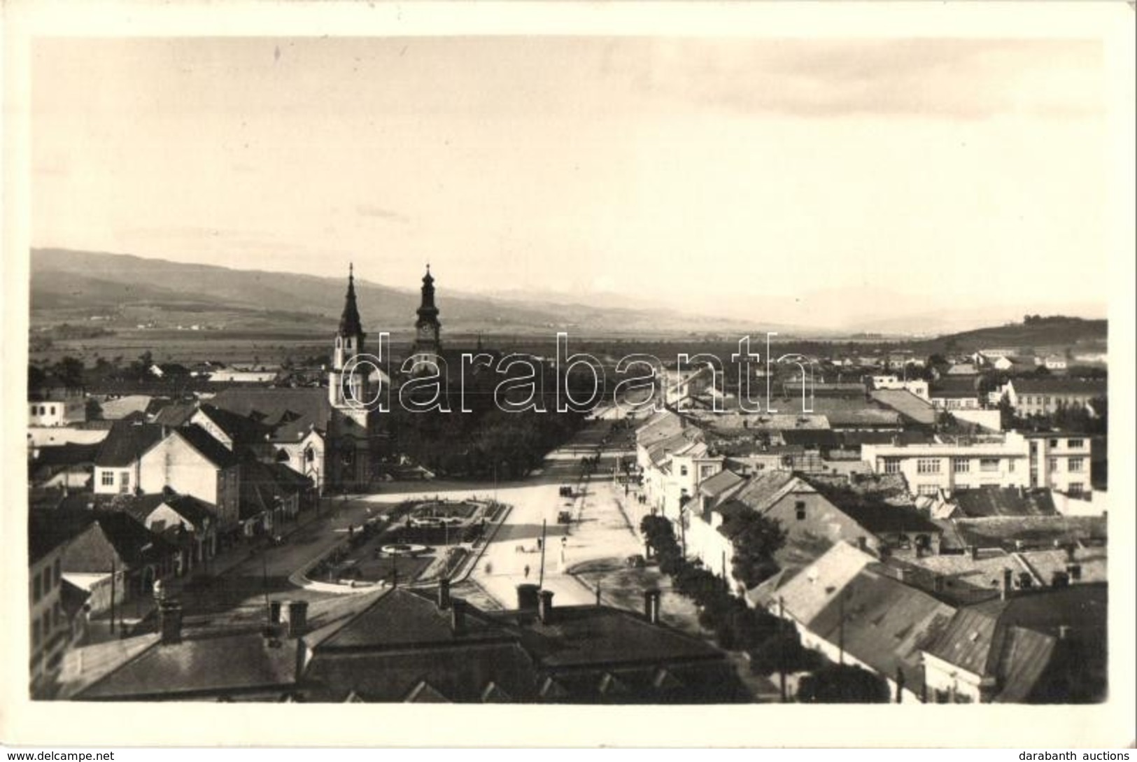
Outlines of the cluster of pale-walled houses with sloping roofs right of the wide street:
[{"label": "cluster of pale-walled houses with sloping roofs right of the wide street", "polygon": [[[912,433],[863,442],[860,467],[755,469],[698,415],[658,413],[637,432],[633,507],[671,520],[689,558],[895,701],[1099,701],[1105,522],[1104,499],[1080,495],[1089,439]],[[749,589],[732,572],[747,514],[786,532],[777,571]]]}]

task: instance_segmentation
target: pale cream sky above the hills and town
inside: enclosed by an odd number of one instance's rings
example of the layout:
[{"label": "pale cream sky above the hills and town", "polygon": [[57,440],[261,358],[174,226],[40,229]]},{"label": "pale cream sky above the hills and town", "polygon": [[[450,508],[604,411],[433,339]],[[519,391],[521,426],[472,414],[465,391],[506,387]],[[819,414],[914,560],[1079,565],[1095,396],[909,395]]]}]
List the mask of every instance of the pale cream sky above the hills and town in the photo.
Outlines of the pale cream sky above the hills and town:
[{"label": "pale cream sky above the hills and town", "polygon": [[1107,291],[1094,41],[57,39],[32,56],[36,247],[354,260],[406,288],[429,262],[467,292],[785,320],[858,293],[887,314],[881,295],[1046,312]]}]

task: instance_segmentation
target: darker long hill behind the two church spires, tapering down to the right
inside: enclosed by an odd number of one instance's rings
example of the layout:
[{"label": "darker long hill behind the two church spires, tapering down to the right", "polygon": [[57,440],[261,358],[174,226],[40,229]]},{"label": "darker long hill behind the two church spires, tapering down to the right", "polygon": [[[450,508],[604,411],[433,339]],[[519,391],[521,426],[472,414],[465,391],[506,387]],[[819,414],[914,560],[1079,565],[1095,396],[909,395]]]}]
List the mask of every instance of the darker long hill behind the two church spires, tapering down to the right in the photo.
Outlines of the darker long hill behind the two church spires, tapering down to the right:
[{"label": "darker long hill behind the two church spires, tapering down to the right", "polygon": [[[97,315],[108,326],[202,322],[263,329],[326,332],[343,305],[343,278],[238,270],[167,262],[123,254],[33,249],[33,328]],[[417,287],[417,283],[413,284]],[[368,331],[408,331],[418,306],[417,288],[392,288],[356,279]],[[666,309],[588,304],[541,304],[473,296],[439,284],[443,330],[589,336],[745,333],[741,321],[677,314]],[[778,330],[779,326],[762,326]],[[792,326],[780,326],[792,331]]]}]

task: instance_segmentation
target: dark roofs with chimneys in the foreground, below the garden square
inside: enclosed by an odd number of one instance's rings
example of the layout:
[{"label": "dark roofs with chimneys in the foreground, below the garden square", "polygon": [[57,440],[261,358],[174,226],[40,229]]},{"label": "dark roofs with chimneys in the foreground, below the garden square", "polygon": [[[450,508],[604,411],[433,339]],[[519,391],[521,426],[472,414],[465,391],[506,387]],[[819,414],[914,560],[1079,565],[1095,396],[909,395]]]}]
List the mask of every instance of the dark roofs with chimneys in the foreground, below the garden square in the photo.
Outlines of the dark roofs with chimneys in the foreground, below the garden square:
[{"label": "dark roofs with chimneys in the foreground, below the garden square", "polygon": [[518,587],[517,607],[482,611],[401,587],[267,602],[223,622],[160,606],[156,632],[76,648],[56,697],[72,701],[702,704],[750,699],[725,655],[644,611],[555,605]]}]

